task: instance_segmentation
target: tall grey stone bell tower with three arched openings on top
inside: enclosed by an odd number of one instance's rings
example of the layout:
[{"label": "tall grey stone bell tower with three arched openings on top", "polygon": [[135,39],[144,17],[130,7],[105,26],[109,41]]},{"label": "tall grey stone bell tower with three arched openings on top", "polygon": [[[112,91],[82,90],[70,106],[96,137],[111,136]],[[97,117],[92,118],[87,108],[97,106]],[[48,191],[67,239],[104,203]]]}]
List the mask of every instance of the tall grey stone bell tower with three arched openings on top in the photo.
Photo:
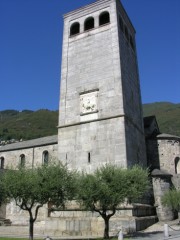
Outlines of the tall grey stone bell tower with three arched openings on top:
[{"label": "tall grey stone bell tower with three arched openings on top", "polygon": [[146,166],[135,29],[118,0],[64,15],[58,157],[70,169]]}]

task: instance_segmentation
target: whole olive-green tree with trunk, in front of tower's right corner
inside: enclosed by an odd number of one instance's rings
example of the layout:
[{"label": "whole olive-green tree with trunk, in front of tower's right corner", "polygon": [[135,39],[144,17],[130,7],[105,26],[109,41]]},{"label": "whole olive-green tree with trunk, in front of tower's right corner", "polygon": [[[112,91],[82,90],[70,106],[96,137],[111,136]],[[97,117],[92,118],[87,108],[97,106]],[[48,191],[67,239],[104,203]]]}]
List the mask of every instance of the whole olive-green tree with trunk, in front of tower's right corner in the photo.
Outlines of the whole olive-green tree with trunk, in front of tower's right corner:
[{"label": "whole olive-green tree with trunk, in front of tower's right corner", "polygon": [[148,171],[140,167],[122,169],[106,165],[94,174],[83,173],[79,179],[78,199],[87,210],[104,220],[104,239],[109,238],[109,219],[125,200],[137,200],[148,189]]}]

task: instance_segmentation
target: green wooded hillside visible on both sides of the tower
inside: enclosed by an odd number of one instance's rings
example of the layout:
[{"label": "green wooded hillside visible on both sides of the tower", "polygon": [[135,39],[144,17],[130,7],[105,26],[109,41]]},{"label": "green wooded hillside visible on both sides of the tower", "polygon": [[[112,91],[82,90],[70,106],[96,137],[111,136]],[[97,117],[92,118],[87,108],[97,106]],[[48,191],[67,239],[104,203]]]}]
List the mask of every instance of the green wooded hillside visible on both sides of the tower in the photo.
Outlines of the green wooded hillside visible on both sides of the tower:
[{"label": "green wooded hillside visible on both sides of the tower", "polygon": [[[180,104],[157,102],[143,105],[144,116],[155,115],[160,131],[180,136]],[[0,141],[29,140],[57,134],[58,111],[0,111]]]}]

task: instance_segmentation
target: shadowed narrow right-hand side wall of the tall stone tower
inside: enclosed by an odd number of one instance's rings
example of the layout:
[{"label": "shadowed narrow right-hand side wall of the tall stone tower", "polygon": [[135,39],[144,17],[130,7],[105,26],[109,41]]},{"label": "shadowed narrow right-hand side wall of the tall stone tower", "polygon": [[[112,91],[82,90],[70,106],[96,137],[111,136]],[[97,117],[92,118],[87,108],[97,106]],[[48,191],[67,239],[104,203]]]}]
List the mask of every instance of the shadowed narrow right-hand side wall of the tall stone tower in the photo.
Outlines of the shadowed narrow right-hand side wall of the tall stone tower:
[{"label": "shadowed narrow right-hand side wall of the tall stone tower", "polygon": [[118,8],[118,21],[123,105],[127,119],[125,127],[128,166],[147,166],[135,30],[121,7]]}]

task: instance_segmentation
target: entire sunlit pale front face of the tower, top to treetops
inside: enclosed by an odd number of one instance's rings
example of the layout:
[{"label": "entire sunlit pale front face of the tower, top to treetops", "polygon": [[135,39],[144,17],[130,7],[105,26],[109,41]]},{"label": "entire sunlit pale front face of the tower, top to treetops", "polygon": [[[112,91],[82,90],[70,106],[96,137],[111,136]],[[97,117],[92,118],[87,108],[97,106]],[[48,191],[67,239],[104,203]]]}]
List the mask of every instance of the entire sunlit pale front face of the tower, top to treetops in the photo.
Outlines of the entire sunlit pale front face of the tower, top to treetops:
[{"label": "entire sunlit pale front face of the tower, top to treetops", "polygon": [[[104,11],[110,23],[99,26]],[[84,31],[90,16],[95,27]],[[74,22],[80,34],[70,37]],[[121,87],[116,1],[97,1],[65,15],[58,156],[70,167],[94,171],[106,162],[126,167]],[[84,109],[88,101],[95,111]]]}]

